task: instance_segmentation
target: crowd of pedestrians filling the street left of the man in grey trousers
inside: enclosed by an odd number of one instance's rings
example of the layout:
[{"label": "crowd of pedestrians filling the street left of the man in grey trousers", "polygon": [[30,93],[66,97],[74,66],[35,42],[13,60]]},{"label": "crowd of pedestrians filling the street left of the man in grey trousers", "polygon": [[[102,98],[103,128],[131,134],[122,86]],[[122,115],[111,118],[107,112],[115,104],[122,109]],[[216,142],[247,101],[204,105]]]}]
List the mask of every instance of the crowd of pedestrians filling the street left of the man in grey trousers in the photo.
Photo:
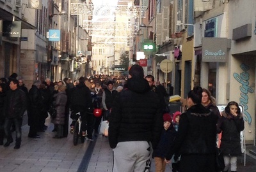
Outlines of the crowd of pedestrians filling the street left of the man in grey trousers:
[{"label": "crowd of pedestrians filling the street left of the man in grey trousers", "polygon": [[58,82],[46,78],[43,82],[35,80],[28,90],[24,80],[16,73],[8,78],[1,78],[0,145],[8,147],[13,143],[12,132],[15,131],[14,148],[20,148],[22,117],[25,111],[28,114],[29,138],[40,138],[40,133],[45,132],[45,119],[51,110],[56,111],[56,116],[51,117],[54,124],[52,132],[55,133],[52,138],[67,137],[69,132],[72,133],[77,120],[74,117],[72,124],[68,124],[72,117],[70,111],[80,111],[83,136],[92,141],[93,133],[94,136],[99,134],[98,128],[102,120],[102,117],[93,116],[93,109],[102,109],[104,118],[107,118],[117,93],[115,89],[120,89],[124,83],[125,77],[115,78],[108,75],[81,77],[74,82],[70,78]]}]

